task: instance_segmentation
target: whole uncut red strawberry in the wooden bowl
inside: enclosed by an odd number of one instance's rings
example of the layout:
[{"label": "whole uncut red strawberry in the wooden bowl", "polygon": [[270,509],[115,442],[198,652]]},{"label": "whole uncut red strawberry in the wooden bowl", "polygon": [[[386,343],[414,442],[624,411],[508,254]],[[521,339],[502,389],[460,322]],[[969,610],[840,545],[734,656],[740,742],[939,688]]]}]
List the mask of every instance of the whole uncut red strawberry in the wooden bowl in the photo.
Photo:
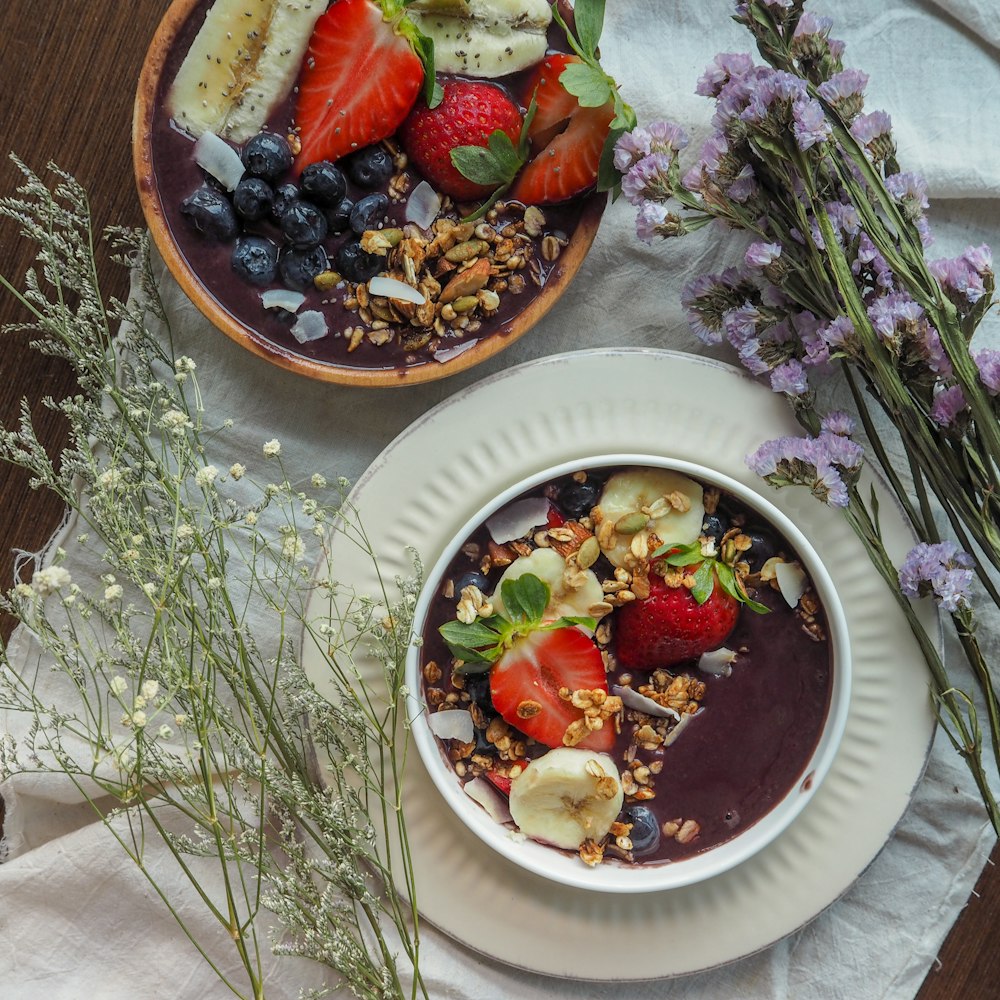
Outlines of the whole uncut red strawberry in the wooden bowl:
[{"label": "whole uncut red strawberry in the wooden bowl", "polygon": [[403,122],[400,137],[414,166],[438,191],[459,201],[475,201],[489,195],[492,188],[465,177],[452,163],[452,150],[485,148],[498,129],[516,146],[522,125],[520,110],[500,87],[453,80],[444,85],[444,98],[437,107],[417,102]]}]

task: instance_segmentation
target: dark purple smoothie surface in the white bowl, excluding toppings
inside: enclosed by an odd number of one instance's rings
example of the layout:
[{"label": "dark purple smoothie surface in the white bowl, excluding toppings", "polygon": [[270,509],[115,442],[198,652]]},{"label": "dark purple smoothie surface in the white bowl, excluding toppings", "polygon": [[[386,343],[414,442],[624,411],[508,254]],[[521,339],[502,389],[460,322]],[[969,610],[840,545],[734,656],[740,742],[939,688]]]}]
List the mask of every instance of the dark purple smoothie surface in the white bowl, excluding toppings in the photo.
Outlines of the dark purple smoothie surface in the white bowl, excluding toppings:
[{"label": "dark purple smoothie surface in the white bowl, excluding toppings", "polygon": [[[544,489],[539,487],[523,496],[541,496]],[[787,541],[759,515],[745,510],[726,494],[723,503],[728,503],[731,510],[745,511],[744,530],[766,528],[776,539],[778,551],[787,559],[796,558]],[[488,537],[483,527],[468,541],[478,543],[485,551]],[[445,598],[442,591],[449,579],[478,569],[478,563],[478,558],[471,559],[459,551],[438,582],[438,594],[424,624],[421,671],[423,664],[431,660],[441,665],[445,676],[436,686],[446,693],[455,690],[448,679],[451,655],[438,634],[438,627],[454,618],[457,597]],[[494,570],[489,574],[492,585],[501,572]],[[598,572],[598,576],[604,578],[605,574]],[[656,797],[642,804],[653,810],[661,826],[676,818],[694,819],[700,824],[700,833],[688,844],[661,837],[659,849],[635,859],[634,864],[680,861],[718,847],[757,823],[789,791],[797,786],[808,788],[812,780],[805,768],[818,745],[833,688],[830,643],[811,638],[779,592],[763,586],[752,596],[771,608],[771,613],[759,615],[741,609],[736,628],[725,645],[746,651],[739,654],[731,675],[717,677],[699,671],[696,661],[671,668],[671,674],[687,673],[705,682],[702,710],[670,746],[656,751],[640,749],[635,754],[637,760],[646,764],[663,761],[663,770],[653,781]],[[815,618],[825,631],[822,609]],[[614,639],[610,649],[613,653]],[[608,676],[609,688],[619,683],[623,673],[631,673],[634,687],[646,681],[639,671],[616,669]],[[424,688],[427,686],[425,683]],[[626,709],[622,732],[610,751],[620,771],[626,767],[625,752],[632,742],[634,728],[628,714]],[[438,743],[442,758],[448,761],[447,744],[440,740]],[[548,749],[529,742],[528,759]],[[453,767],[450,762],[446,766]],[[626,798],[626,805],[628,802]]]}]

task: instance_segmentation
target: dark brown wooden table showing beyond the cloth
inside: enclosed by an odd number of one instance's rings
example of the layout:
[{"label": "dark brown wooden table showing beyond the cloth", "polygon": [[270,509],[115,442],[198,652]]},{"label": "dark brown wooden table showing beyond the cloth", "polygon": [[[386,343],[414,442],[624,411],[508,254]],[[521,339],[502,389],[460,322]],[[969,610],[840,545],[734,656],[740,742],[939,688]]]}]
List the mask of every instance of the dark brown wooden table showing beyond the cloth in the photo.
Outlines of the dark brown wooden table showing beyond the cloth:
[{"label": "dark brown wooden table showing beyond the cloth", "polygon": [[[167,5],[167,0],[0,2],[0,152],[16,152],[36,171],[54,160],[74,174],[90,192],[98,230],[110,223],[142,223],[130,158],[132,96],[146,46]],[[14,165],[0,160],[0,195],[12,194],[18,183]],[[16,227],[0,220],[0,271],[19,282],[32,255]],[[127,278],[120,268],[102,261],[100,276],[108,294],[124,295]],[[0,323],[24,318],[13,299],[0,292]],[[72,390],[66,367],[31,351],[26,338],[16,335],[4,338],[2,365],[0,420],[15,421],[26,397],[46,444],[58,450],[64,429],[40,400]],[[0,581],[9,581],[12,549],[42,545],[62,510],[7,467],[0,467],[0,510]],[[5,635],[9,629],[4,623]],[[2,815],[0,805],[0,822]],[[1000,850],[994,851],[997,859]],[[990,865],[919,1000],[1000,996],[998,940],[1000,869]],[[891,927],[885,929],[885,947],[893,947]]]}]

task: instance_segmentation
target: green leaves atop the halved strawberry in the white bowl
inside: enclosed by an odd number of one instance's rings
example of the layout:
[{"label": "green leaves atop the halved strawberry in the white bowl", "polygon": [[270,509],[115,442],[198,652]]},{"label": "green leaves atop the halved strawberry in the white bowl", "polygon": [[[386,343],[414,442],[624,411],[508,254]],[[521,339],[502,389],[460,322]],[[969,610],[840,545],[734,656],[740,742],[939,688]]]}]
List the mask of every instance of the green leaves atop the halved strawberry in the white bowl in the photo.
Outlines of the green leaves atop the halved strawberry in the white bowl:
[{"label": "green leaves atop the halved strawberry in the white bowl", "polygon": [[506,615],[495,614],[474,622],[445,622],[438,632],[452,656],[462,661],[459,673],[484,673],[520,638],[532,632],[581,626],[595,629],[593,618],[565,616],[553,622],[542,621],[552,590],[535,576],[524,573],[514,580],[504,580],[501,589]]}]

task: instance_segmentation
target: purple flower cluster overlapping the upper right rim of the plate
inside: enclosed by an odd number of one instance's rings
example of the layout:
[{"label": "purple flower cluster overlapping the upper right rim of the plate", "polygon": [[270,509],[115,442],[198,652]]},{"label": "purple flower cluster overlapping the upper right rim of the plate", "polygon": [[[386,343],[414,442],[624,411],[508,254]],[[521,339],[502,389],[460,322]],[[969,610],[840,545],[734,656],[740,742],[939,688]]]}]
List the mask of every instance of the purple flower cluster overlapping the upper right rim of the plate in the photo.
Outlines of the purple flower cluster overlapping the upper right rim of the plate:
[{"label": "purple flower cluster overlapping the upper right rim of the plate", "polygon": [[807,486],[831,507],[846,507],[864,458],[861,445],[847,436],[853,429],[846,414],[832,413],[817,437],[765,441],[747,456],[747,466],[774,486]]}]

